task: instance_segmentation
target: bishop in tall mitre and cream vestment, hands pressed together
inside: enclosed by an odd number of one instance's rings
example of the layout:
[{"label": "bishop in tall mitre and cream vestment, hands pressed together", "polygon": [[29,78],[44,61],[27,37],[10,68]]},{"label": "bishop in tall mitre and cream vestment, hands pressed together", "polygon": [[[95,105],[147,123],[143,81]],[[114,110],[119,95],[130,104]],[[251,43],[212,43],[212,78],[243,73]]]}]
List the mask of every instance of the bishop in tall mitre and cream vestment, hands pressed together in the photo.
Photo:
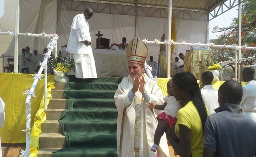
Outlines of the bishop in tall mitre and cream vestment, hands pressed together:
[{"label": "bishop in tall mitre and cream vestment, hands pressed together", "polygon": [[149,103],[164,104],[164,100],[157,82],[142,72],[147,53],[146,45],[138,38],[134,38],[126,50],[130,75],[123,78],[114,96],[118,110],[118,157],[170,156],[165,134],[160,140],[157,152],[150,149],[154,144],[156,117],[161,111],[151,110]]}]

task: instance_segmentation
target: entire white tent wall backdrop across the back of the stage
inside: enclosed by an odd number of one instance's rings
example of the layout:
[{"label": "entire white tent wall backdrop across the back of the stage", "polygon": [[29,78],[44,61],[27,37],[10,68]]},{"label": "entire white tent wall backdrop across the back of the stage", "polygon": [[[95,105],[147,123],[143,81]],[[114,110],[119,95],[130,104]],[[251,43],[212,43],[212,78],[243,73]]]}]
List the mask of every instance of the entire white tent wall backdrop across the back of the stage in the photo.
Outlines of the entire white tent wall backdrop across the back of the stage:
[{"label": "entire white tent wall backdrop across the back of the stage", "polygon": [[[98,31],[103,34],[102,38],[110,39],[110,44],[121,43],[123,37],[129,42],[135,34],[140,39],[147,38],[149,41],[160,39],[162,34],[168,38],[167,9],[69,0],[20,0],[20,33],[56,32],[59,35],[58,51],[60,51],[60,46],[68,43],[73,17],[83,13],[86,7],[94,10],[93,17],[89,20],[92,48],[96,48],[95,34],[98,34]],[[175,41],[206,43],[206,12],[173,10],[173,14],[177,32]],[[7,38],[6,36],[1,35],[0,38]],[[20,36],[19,53],[25,46],[30,46],[31,52],[38,49],[41,53],[48,42],[46,38]],[[149,49],[147,60],[152,55],[154,60],[158,61],[160,45],[147,44],[147,46]],[[187,49],[189,49],[187,46],[175,46],[176,54],[173,58]],[[14,55],[14,41],[10,43],[5,55]]]}]

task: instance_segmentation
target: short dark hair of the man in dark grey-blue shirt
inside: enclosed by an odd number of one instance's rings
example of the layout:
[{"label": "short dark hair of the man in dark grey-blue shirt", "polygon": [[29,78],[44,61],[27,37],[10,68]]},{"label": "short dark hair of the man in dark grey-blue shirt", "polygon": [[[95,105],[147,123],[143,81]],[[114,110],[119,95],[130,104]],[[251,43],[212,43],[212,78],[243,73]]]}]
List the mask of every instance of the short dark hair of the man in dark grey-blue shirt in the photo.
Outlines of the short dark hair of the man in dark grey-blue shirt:
[{"label": "short dark hair of the man in dark grey-blue shirt", "polygon": [[242,85],[235,80],[224,82],[218,92],[228,100],[228,103],[239,104],[242,100]]}]

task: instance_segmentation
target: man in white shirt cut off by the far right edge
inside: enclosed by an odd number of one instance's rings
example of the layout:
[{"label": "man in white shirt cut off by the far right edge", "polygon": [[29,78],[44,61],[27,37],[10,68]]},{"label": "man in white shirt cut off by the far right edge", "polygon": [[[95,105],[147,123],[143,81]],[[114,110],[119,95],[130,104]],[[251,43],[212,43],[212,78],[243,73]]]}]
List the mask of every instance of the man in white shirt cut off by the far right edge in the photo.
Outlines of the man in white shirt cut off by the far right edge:
[{"label": "man in white shirt cut off by the far right edge", "polygon": [[253,67],[244,68],[242,71],[242,80],[246,85],[242,87],[242,114],[248,116],[256,122],[256,81],[254,80],[255,70]]}]

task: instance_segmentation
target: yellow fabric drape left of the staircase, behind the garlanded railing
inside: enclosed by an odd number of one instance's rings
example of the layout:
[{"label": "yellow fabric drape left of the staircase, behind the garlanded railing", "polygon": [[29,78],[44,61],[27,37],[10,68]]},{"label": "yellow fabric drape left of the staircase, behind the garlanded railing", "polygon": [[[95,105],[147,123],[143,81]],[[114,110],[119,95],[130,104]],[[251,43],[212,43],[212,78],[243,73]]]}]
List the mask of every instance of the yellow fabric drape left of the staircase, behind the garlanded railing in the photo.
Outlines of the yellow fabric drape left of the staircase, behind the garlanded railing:
[{"label": "yellow fabric drape left of the staircase, behind the garlanded railing", "polygon": [[[5,122],[0,128],[2,143],[25,143],[26,107],[24,91],[31,88],[33,74],[0,73],[0,97],[5,102]],[[54,81],[53,75],[48,75],[48,82]],[[31,125],[38,112],[44,95],[44,78],[38,81],[35,98],[31,97]]]}]

